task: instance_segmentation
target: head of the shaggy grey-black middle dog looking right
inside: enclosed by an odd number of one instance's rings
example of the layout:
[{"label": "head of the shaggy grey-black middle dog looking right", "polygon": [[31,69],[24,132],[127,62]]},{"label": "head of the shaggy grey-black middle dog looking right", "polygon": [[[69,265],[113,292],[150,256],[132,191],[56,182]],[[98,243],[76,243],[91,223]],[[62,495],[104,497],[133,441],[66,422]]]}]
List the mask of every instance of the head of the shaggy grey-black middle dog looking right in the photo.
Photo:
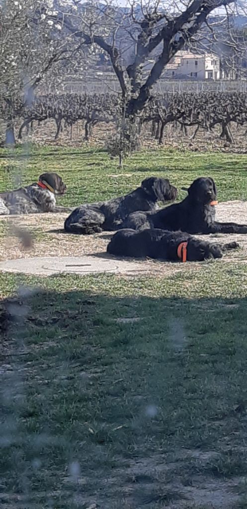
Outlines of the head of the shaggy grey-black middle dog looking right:
[{"label": "head of the shaggy grey-black middle dog looking right", "polygon": [[169,202],[176,200],[178,190],[168,179],[149,177],[142,181],[141,187],[154,202]]}]

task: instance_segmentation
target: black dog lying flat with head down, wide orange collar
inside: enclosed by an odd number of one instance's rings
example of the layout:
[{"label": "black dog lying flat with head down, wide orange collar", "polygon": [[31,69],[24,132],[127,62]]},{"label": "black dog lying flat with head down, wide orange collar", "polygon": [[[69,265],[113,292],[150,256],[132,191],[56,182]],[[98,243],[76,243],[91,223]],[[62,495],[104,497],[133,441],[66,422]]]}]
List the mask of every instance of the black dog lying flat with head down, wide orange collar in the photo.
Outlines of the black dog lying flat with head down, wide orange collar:
[{"label": "black dog lying flat with head down, wide orange collar", "polygon": [[202,262],[209,258],[222,258],[225,251],[237,247],[236,242],[223,245],[204,242],[182,232],[120,230],[109,242],[107,252],[132,258]]}]

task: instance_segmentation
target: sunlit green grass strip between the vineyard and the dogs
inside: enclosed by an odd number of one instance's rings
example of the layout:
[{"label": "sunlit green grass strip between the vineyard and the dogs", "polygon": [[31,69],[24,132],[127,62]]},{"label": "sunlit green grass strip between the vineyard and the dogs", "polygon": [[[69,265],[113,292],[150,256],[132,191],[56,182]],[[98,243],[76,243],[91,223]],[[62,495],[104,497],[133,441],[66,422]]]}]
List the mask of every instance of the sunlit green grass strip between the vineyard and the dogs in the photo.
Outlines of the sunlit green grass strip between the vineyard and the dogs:
[{"label": "sunlit green grass strip between the vineyard and the dogs", "polygon": [[105,152],[92,147],[24,146],[15,152],[2,149],[1,154],[0,191],[12,189],[18,177],[26,185],[41,173],[54,171],[62,175],[68,187],[62,199],[65,205],[107,200],[130,191],[152,175],[168,177],[178,186],[180,199],[184,196],[181,187],[199,176],[215,179],[221,201],[247,199],[247,155],[160,149],[133,154],[120,170],[116,159],[111,160]]}]

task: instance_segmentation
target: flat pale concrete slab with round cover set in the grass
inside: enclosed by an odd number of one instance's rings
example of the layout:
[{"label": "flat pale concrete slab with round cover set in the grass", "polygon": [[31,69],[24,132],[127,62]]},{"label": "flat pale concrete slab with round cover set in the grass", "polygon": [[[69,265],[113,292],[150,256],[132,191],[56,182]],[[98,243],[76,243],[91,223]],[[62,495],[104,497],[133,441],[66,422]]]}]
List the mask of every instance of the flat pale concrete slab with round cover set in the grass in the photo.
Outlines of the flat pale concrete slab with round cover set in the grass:
[{"label": "flat pale concrete slab with round cover set in the grass", "polygon": [[94,274],[112,272],[126,274],[146,272],[145,264],[127,260],[101,258],[99,256],[21,258],[0,263],[0,271],[51,276],[60,273]]}]

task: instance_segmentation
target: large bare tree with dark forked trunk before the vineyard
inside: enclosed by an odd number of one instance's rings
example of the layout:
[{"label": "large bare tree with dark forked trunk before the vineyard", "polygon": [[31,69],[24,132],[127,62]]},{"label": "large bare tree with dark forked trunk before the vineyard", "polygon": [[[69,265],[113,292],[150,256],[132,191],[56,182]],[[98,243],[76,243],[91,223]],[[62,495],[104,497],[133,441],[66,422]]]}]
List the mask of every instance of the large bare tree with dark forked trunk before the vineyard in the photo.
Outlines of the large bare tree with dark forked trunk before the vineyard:
[{"label": "large bare tree with dark forked trunk before the vineyard", "polygon": [[107,53],[121,87],[126,117],[135,117],[177,51],[195,44],[206,33],[212,39],[216,37],[215,28],[223,14],[228,22],[229,44],[236,45],[229,20],[241,9],[242,2],[130,0],[124,9],[112,0],[54,0],[54,4],[58,14],[49,19],[56,19],[64,33]]}]

